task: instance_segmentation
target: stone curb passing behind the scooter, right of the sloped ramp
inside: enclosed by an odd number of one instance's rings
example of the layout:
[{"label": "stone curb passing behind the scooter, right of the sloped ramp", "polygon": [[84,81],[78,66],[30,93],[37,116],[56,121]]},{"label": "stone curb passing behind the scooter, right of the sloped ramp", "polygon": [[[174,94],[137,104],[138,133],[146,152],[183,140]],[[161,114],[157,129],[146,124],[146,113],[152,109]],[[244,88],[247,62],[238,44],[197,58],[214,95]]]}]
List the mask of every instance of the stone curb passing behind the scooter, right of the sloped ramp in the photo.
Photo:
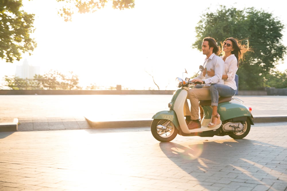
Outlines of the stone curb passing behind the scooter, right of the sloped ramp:
[{"label": "stone curb passing behind the scooter, right of the sloped ramp", "polygon": [[[90,121],[87,122],[91,128],[119,128],[119,127],[149,127],[152,120],[134,120],[134,121]],[[256,117],[254,118],[254,124],[256,123],[272,123],[272,122],[287,122],[287,116],[280,117]]]}]

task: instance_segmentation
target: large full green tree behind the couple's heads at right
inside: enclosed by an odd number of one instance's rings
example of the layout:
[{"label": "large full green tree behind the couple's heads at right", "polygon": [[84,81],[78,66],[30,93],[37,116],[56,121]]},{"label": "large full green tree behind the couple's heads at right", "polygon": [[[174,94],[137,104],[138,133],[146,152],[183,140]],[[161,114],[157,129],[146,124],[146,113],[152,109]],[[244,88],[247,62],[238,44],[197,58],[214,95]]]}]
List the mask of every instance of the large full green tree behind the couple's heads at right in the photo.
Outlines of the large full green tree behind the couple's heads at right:
[{"label": "large full green tree behind the couple's heads at right", "polygon": [[192,46],[201,50],[202,40],[208,36],[218,42],[234,37],[243,44],[248,39],[254,52],[247,52],[238,68],[238,85],[240,90],[254,90],[264,86],[265,76],[286,54],[286,46],[282,44],[283,29],[277,17],[263,10],[254,7],[239,10],[220,5],[215,12],[208,8],[201,16]]}]

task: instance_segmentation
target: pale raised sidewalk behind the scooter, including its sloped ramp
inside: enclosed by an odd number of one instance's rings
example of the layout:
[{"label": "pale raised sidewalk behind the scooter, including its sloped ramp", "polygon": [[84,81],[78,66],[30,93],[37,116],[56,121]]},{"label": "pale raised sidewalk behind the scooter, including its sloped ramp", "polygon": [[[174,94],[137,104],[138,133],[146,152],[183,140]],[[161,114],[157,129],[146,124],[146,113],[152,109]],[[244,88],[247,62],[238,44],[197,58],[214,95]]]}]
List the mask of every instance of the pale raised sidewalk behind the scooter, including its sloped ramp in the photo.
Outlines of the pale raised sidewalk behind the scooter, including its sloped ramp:
[{"label": "pale raised sidewalk behind the scooter, including its sloped ramp", "polygon": [[[254,123],[287,121],[287,96],[235,96],[252,108]],[[172,95],[0,95],[0,122],[17,118],[18,131],[146,127]],[[87,120],[86,120],[87,119]]]}]

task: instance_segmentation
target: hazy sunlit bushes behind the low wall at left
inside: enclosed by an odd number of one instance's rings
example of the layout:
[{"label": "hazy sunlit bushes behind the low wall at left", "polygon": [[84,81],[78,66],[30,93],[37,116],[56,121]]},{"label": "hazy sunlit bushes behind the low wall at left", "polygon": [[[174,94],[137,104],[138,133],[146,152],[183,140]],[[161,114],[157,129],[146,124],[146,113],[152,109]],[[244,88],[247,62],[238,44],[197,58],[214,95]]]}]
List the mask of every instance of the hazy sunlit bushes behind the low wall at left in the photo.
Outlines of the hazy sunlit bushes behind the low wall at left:
[{"label": "hazy sunlit bushes behind the low wall at left", "polygon": [[23,79],[17,76],[5,76],[6,86],[13,90],[74,90],[82,89],[78,86],[79,79],[73,72],[68,75],[50,70],[43,76],[35,75],[34,79]]}]

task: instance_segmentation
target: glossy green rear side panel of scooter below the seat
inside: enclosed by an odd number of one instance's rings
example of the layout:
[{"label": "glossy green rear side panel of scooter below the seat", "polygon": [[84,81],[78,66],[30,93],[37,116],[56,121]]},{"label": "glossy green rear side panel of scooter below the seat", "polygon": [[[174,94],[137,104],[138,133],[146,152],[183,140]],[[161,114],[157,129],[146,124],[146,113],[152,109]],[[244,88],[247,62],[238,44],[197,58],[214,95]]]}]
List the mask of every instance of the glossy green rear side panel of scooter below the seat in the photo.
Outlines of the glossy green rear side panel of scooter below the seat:
[{"label": "glossy green rear side panel of scooter below the seat", "polygon": [[236,117],[251,117],[251,113],[244,105],[232,102],[218,104],[218,113],[220,113],[221,121]]}]

